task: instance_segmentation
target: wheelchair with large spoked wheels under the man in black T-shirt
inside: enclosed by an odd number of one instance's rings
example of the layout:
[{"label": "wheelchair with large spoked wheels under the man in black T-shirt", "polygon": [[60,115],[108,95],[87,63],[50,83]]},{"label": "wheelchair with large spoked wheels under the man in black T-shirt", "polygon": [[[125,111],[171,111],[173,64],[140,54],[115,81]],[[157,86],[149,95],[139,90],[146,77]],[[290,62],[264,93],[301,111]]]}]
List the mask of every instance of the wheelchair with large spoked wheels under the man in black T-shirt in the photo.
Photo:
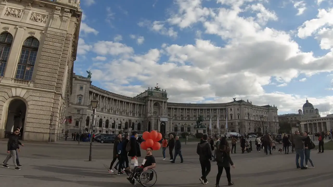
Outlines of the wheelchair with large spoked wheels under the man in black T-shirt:
[{"label": "wheelchair with large spoked wheels under the man in black T-shirt", "polygon": [[157,181],[155,170],[148,169],[147,171],[138,172],[134,175],[134,187],[137,187],[139,182],[144,187],[152,187]]}]

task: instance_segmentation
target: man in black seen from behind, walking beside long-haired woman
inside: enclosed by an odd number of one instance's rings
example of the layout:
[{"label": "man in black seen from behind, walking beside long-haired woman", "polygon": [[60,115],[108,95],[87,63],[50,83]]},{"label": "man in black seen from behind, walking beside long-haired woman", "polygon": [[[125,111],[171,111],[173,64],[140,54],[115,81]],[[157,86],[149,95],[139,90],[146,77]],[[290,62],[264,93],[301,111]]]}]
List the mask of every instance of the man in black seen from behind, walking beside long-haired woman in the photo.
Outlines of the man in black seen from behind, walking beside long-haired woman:
[{"label": "man in black seen from behind, walking beside long-haired woman", "polygon": [[196,153],[199,155],[199,161],[201,165],[201,174],[199,178],[202,184],[207,184],[207,175],[210,172],[210,159],[212,156],[211,148],[209,142],[207,142],[207,134],[204,134],[200,143],[196,148]]}]

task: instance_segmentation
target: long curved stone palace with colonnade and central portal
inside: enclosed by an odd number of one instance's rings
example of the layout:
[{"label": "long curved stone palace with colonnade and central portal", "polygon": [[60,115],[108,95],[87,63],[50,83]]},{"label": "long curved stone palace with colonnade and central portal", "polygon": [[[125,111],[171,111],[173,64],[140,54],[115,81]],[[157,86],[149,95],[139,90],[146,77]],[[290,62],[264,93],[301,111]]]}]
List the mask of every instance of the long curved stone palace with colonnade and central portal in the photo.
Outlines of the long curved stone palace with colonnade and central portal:
[{"label": "long curved stone palace with colonnade and central portal", "polygon": [[[96,124],[92,124],[90,101],[99,100]],[[256,106],[252,102],[236,100],[228,103],[190,104],[167,102],[167,92],[161,88],[148,88],[135,97],[105,91],[91,85],[90,78],[73,76],[73,95],[67,116],[72,123],[67,124],[69,133],[79,132],[93,126],[95,133],[118,133],[132,128],[144,132],[158,130],[163,133],[189,132],[196,133],[194,125],[199,115],[203,116],[203,124],[209,128],[212,117],[212,129],[216,134],[217,118],[221,132],[224,132],[226,118],[228,131],[248,133],[275,133],[278,129],[277,107]],[[81,124],[80,117],[83,118]],[[208,131],[207,131],[208,132]],[[210,133],[210,132],[209,132]]]}]

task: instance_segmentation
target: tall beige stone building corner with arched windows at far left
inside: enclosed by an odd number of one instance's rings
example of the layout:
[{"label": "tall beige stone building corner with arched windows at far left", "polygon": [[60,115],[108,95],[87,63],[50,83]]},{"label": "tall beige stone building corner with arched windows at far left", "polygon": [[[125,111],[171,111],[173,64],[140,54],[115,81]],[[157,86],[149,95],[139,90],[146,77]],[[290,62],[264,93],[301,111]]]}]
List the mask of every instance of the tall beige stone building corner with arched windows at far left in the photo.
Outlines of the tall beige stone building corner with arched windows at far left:
[{"label": "tall beige stone building corner with arched windows at far left", "polygon": [[56,141],[65,128],[80,0],[1,0],[0,138]]}]

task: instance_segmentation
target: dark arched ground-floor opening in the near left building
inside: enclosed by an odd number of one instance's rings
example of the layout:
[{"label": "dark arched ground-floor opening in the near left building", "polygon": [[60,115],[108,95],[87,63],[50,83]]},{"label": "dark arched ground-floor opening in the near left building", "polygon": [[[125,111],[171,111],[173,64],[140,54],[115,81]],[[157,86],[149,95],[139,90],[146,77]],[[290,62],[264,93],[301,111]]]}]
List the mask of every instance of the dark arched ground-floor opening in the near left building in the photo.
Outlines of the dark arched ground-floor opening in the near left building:
[{"label": "dark arched ground-floor opening in the near left building", "polygon": [[9,102],[5,125],[5,137],[8,138],[14,129],[19,128],[19,139],[23,140],[24,125],[27,112],[27,104],[20,98],[14,98]]}]

